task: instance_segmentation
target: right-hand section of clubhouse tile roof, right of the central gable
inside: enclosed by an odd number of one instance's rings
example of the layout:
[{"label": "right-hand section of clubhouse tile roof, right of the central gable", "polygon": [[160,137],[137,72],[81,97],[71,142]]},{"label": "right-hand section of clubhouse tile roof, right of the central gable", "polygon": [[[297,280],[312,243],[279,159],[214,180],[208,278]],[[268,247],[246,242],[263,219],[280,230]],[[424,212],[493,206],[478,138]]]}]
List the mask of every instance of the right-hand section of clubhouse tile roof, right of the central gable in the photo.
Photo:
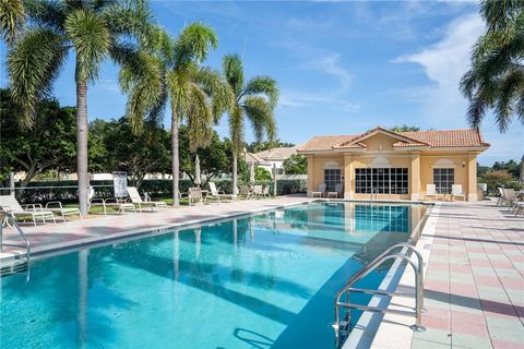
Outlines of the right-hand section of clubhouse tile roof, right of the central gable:
[{"label": "right-hand section of clubhouse tile roof, right of the central gable", "polygon": [[[402,135],[427,143],[431,147],[475,147],[489,146],[477,130],[417,131],[402,132]],[[394,145],[406,146],[406,145]]]}]

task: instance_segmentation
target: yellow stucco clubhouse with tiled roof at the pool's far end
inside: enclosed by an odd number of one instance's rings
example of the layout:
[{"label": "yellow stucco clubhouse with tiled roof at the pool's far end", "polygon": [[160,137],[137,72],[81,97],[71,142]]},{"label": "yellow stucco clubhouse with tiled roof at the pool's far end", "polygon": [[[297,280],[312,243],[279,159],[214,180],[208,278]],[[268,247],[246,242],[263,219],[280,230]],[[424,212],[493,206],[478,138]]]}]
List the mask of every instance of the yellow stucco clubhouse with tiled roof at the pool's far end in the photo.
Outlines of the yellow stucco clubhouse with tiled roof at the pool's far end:
[{"label": "yellow stucco clubhouse with tiled roof at the pool's far end", "polygon": [[[428,184],[450,194],[461,184],[477,200],[477,155],[489,147],[477,130],[395,133],[376,128],[362,134],[315,136],[299,154],[308,159],[308,194],[342,183],[345,198],[426,198]],[[338,185],[340,188],[341,185]]]}]

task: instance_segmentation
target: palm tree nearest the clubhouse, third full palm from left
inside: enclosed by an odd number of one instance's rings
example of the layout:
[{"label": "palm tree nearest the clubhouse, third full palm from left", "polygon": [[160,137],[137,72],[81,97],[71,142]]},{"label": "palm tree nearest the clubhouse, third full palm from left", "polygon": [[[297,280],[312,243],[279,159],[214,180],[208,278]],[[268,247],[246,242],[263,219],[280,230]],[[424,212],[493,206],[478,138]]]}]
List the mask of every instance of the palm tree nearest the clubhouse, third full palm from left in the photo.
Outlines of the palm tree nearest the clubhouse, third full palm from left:
[{"label": "palm tree nearest the clubhouse, third full palm from left", "polygon": [[237,194],[238,156],[243,148],[245,117],[251,123],[257,141],[264,133],[271,141],[276,134],[274,109],[278,101],[278,87],[269,76],[254,76],[245,83],[242,60],[238,55],[227,55],[223,61],[224,75],[235,95],[229,110],[229,134],[233,143],[233,190]]}]

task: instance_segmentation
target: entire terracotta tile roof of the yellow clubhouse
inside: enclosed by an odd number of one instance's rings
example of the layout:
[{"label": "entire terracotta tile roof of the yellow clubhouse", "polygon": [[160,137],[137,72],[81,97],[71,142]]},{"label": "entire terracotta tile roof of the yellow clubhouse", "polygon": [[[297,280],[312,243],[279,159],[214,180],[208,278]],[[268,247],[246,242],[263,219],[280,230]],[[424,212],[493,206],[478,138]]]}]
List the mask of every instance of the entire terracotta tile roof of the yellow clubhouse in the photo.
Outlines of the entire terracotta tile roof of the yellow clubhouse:
[{"label": "entire terracotta tile roof of the yellow clubhouse", "polygon": [[[315,136],[306,143],[300,152],[321,152],[345,148],[366,148],[360,140],[374,131],[392,133],[382,128],[372,129],[366,133],[353,135],[327,135]],[[480,132],[476,130],[451,130],[451,131],[417,131],[398,133],[404,140],[398,141],[394,147],[483,147],[489,146],[484,142]]]}]

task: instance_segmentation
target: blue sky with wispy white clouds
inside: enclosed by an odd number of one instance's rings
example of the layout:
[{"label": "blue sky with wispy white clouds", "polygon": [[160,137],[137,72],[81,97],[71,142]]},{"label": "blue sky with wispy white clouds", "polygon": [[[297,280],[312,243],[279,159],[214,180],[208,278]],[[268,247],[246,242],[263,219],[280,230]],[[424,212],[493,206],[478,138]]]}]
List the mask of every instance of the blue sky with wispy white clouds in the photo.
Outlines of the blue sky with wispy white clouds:
[{"label": "blue sky with wispy white clouds", "polygon": [[[184,23],[211,25],[218,48],[205,64],[221,69],[226,53],[243,53],[246,77],[278,83],[278,139],[295,144],[314,135],[355,134],[377,125],[421,130],[467,129],[467,100],[458,81],[484,24],[477,2],[453,1],[152,1],[157,22],[174,37]],[[0,86],[8,85],[5,46],[0,45]],[[75,104],[69,58],[55,96]],[[124,115],[118,68],[104,63],[88,87],[88,117]],[[165,116],[169,127],[169,117]],[[227,118],[216,127],[227,136]],[[516,120],[501,134],[489,115],[481,125],[491,147],[480,165],[520,159],[524,127]],[[246,140],[253,141],[249,125]]]}]

